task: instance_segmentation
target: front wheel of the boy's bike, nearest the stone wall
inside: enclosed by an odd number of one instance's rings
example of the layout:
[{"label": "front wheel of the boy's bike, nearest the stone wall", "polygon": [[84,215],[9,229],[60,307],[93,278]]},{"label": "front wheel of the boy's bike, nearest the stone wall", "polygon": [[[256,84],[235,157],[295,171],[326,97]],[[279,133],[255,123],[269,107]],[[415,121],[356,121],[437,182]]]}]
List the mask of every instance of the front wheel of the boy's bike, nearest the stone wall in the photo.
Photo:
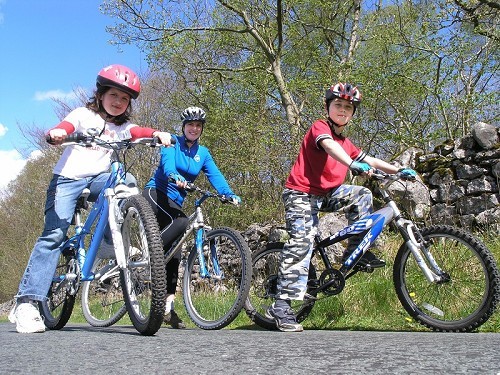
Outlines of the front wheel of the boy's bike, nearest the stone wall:
[{"label": "front wheel of the boy's bike, nearest the stone wall", "polygon": [[423,237],[449,282],[429,283],[410,249],[402,245],[393,279],[399,301],[418,323],[442,332],[470,332],[485,323],[500,298],[495,260],[486,246],[462,229],[424,228]]}]

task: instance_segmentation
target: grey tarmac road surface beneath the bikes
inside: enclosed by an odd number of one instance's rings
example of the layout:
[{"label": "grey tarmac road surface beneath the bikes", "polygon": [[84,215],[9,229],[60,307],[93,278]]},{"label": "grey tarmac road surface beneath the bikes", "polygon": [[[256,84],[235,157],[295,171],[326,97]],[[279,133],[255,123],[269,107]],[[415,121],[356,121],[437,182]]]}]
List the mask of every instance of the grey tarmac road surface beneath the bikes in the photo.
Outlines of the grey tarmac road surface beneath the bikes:
[{"label": "grey tarmac road surface beneath the bikes", "polygon": [[500,334],[0,324],[0,374],[500,374]]}]

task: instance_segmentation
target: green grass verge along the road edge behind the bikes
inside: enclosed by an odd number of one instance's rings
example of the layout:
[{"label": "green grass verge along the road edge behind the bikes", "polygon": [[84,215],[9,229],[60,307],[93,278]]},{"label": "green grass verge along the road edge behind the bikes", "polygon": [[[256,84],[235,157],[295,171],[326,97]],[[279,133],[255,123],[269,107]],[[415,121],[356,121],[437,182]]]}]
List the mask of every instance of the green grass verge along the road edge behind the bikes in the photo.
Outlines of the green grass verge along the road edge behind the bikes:
[{"label": "green grass verge along the road edge behind the bikes", "polygon": [[[478,236],[492,251],[495,259],[500,259],[500,239],[495,234]],[[337,296],[320,299],[312,313],[303,322],[305,329],[327,330],[381,330],[381,331],[429,331],[413,321],[397,299],[392,282],[392,259],[400,244],[399,237],[389,238],[384,246],[385,268],[371,274],[360,273],[349,279],[345,289]],[[190,321],[179,294],[176,311],[188,328],[196,326]],[[7,321],[7,317],[0,317]],[[86,323],[79,300],[75,304],[71,323]],[[125,315],[118,325],[131,325]],[[241,312],[227,327],[228,329],[259,329]],[[483,324],[479,332],[500,332],[500,310]]]}]

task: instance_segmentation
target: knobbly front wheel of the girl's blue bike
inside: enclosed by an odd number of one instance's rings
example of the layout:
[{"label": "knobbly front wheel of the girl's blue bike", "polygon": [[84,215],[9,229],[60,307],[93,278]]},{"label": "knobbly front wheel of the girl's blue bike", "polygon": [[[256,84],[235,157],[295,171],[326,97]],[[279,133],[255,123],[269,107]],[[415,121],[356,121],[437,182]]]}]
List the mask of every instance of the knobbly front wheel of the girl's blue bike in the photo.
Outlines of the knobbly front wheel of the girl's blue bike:
[{"label": "knobbly front wheel of the girl's blue bike", "polygon": [[120,270],[127,312],[135,329],[154,335],[165,313],[166,271],[156,217],[140,195],[126,199],[121,226],[127,267]]}]

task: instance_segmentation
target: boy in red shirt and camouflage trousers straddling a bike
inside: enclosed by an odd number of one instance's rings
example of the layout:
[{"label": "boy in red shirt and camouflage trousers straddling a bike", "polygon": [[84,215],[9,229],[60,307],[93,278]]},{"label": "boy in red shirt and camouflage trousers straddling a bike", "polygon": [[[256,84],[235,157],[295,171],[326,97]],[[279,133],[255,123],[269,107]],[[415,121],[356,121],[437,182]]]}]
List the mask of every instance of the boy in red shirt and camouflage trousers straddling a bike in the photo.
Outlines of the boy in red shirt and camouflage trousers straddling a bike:
[{"label": "boy in red shirt and camouflage trousers straddling a bike", "polygon": [[[326,90],[327,119],[312,124],[286,180],[283,202],[290,239],[283,248],[277,299],[267,311],[281,331],[302,331],[290,301],[302,300],[307,290],[318,212],[343,210],[349,224],[372,212],[371,191],[362,186],[345,185],[347,171],[365,175],[369,175],[372,168],[386,173],[400,171],[394,165],[368,156],[342,135],[360,103],[361,93],[349,83],[337,83]],[[401,173],[415,175],[411,169]],[[345,255],[360,241],[361,238],[351,238]],[[358,264],[377,268],[385,262],[368,251]]]}]

